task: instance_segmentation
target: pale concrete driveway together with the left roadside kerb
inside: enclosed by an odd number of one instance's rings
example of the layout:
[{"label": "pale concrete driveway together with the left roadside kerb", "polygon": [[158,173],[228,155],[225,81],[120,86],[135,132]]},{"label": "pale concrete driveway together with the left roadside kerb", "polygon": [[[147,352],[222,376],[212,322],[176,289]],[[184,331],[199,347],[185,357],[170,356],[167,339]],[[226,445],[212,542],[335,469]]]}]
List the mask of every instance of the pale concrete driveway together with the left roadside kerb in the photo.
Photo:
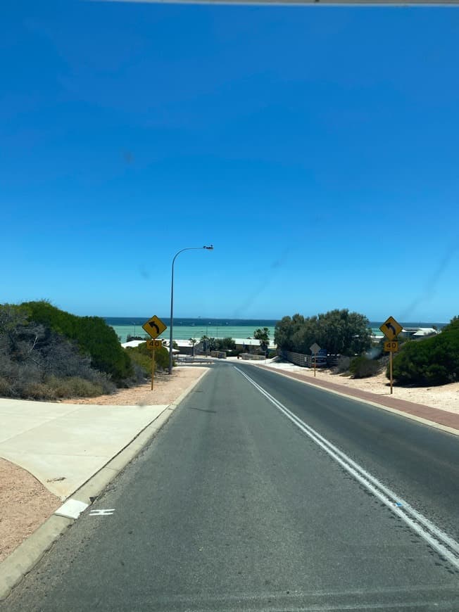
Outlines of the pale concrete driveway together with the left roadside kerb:
[{"label": "pale concrete driveway together with the left roadside kerb", "polygon": [[0,563],[0,601],[142,451],[202,380],[164,405],[59,404],[0,399],[0,457],[64,503]]}]

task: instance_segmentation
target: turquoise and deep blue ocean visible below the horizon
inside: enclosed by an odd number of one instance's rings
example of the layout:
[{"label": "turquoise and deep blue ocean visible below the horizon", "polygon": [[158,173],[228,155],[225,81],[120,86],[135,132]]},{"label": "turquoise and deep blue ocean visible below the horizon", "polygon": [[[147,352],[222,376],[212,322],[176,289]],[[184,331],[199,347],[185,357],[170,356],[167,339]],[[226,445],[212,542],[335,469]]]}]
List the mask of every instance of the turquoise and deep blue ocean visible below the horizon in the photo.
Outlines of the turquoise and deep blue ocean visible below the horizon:
[{"label": "turquoise and deep blue ocean visible below the horizon", "polygon": [[[149,317],[104,317],[108,325],[115,330],[120,342],[125,342],[128,335],[130,336],[146,336],[142,329],[145,321]],[[169,326],[169,317],[160,317],[164,323]],[[199,340],[202,336],[209,338],[249,338],[253,336],[253,332],[259,327],[268,327],[271,340],[274,339],[275,325],[278,319],[197,319],[180,318],[174,319],[174,340],[188,340],[196,338]],[[382,336],[379,331],[379,326],[384,321],[370,321],[375,336]],[[405,322],[404,327],[432,327],[436,325],[443,327],[444,323],[425,323],[425,322]],[[166,329],[159,338],[169,338],[169,329]]]}]

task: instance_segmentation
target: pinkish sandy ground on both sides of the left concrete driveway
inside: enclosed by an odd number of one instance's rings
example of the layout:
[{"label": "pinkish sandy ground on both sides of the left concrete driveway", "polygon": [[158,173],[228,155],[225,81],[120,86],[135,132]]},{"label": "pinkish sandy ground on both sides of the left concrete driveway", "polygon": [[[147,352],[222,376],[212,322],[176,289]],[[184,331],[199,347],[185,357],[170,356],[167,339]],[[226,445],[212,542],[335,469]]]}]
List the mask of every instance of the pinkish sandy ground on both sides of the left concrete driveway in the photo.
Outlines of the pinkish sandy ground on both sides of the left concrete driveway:
[{"label": "pinkish sandy ground on both sides of the left concrete driveway", "polygon": [[[177,367],[172,376],[157,374],[151,383],[122,389],[114,395],[65,400],[67,404],[155,405],[175,402],[205,368]],[[39,402],[37,402],[39,405]],[[0,458],[0,562],[61,506],[29,472]]]}]

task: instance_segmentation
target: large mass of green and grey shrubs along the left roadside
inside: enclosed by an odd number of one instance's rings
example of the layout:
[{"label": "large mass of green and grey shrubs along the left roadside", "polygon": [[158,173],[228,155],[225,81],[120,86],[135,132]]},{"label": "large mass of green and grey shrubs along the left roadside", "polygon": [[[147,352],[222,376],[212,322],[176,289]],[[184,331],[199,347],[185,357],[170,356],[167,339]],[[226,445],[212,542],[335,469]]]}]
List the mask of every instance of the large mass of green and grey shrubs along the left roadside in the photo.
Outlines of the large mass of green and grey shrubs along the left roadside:
[{"label": "large mass of green and grey shrubs along the left roadside", "polygon": [[[167,366],[165,348],[155,357],[156,369]],[[150,375],[146,343],[123,349],[100,317],[77,317],[46,301],[0,305],[0,397],[95,397]]]}]

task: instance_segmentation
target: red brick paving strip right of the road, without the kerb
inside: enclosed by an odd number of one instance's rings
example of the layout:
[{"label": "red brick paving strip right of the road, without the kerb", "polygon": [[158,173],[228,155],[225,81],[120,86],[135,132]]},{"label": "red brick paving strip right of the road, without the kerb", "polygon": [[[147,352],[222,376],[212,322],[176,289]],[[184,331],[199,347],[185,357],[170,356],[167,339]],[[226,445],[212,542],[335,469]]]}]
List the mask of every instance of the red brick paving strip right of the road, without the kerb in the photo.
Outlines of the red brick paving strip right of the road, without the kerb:
[{"label": "red brick paving strip right of the road, without the kerb", "polygon": [[[276,371],[274,368],[270,368],[269,366],[260,365],[257,367],[269,370],[270,372]],[[317,381],[313,378],[305,378],[305,376],[296,374],[296,372],[282,371],[282,374],[284,374],[284,376],[289,376],[290,378],[295,378],[295,380],[302,381],[303,383],[316,385],[317,387],[322,387],[324,389],[339,391],[339,393],[342,393],[343,395],[356,397],[358,400],[367,400],[367,402],[382,404],[383,406],[394,408],[400,412],[413,414],[414,416],[419,416],[421,419],[426,419],[426,421],[433,421],[434,423],[439,423],[439,425],[451,427],[459,431],[459,414],[455,414],[453,412],[446,412],[445,410],[425,406],[425,404],[415,404],[414,402],[407,402],[406,400],[398,400],[396,397],[384,397],[360,389],[344,388],[343,385],[338,385],[337,383],[329,383],[328,381]]]}]

